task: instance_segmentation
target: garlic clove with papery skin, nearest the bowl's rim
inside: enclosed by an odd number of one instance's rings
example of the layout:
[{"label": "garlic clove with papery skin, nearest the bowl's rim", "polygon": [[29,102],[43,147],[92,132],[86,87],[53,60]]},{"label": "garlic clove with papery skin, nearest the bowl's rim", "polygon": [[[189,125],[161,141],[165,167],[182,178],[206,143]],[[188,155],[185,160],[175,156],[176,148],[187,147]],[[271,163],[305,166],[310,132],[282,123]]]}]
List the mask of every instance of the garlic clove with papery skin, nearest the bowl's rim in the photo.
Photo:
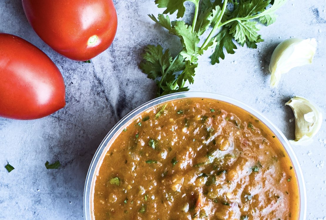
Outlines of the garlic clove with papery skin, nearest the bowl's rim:
[{"label": "garlic clove with papery skin, nearest the bowl's rim", "polygon": [[323,120],[319,108],[300,96],[294,96],[285,104],[292,108],[295,118],[295,140],[290,143],[300,145],[311,143]]}]

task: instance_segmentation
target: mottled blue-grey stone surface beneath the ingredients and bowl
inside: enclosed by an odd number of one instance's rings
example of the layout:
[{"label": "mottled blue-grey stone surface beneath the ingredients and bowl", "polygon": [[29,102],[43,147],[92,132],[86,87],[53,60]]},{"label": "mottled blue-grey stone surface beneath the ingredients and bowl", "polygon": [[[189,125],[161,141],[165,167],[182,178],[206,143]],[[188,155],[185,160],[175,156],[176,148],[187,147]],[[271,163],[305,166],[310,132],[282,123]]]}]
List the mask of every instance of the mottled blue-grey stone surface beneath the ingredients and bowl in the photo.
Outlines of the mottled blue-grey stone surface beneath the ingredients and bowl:
[{"label": "mottled blue-grey stone surface beneath the ingredients and bowl", "polygon": [[[17,121],[0,118],[0,219],[83,219],[82,198],[91,159],[112,126],[129,111],[155,97],[156,85],[138,68],[147,44],[180,50],[178,39],[155,25],[154,0],[116,0],[119,27],[112,46],[92,63],[75,62],[54,52],[27,22],[20,0],[0,0],[0,32],[18,35],[42,49],[58,66],[67,87],[67,106],[51,116]],[[284,103],[294,95],[326,110],[326,2],[288,1],[277,22],[262,27],[258,49],[239,48],[215,66],[209,53],[199,61],[191,90],[239,99],[294,136],[293,114]],[[268,65],[275,46],[289,37],[314,37],[313,65],[291,70],[276,89],[269,87]],[[0,54],[1,56],[1,54]],[[1,80],[1,76],[0,76]],[[309,146],[295,146],[307,186],[307,219],[326,216],[326,122]],[[62,167],[46,170],[59,159]],[[10,162],[16,169],[8,173]]]}]

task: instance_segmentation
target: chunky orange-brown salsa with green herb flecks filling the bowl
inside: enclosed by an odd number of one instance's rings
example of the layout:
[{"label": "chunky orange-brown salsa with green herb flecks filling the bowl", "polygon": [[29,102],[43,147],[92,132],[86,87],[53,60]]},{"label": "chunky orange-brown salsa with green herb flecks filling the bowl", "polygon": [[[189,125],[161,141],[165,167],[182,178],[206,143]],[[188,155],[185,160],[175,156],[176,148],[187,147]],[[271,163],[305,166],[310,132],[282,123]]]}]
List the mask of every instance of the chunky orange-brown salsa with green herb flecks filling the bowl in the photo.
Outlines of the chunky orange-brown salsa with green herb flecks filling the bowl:
[{"label": "chunky orange-brown salsa with green herb flecks filling the bowl", "polygon": [[299,218],[297,180],[283,146],[229,103],[160,104],[110,145],[95,180],[96,220]]}]

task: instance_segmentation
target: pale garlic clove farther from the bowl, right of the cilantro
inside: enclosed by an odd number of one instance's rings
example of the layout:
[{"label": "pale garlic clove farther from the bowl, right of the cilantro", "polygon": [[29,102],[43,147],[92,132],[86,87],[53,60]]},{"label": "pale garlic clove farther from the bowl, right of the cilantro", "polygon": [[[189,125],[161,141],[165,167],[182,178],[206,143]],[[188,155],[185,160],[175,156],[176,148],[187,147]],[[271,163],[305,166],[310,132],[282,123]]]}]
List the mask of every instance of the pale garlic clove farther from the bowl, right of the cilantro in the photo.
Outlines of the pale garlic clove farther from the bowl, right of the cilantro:
[{"label": "pale garlic clove farther from the bowl, right of the cilantro", "polygon": [[281,75],[290,69],[311,64],[316,53],[317,42],[315,38],[290,38],[280,43],[274,50],[269,64],[271,72],[271,87],[276,87]]}]

